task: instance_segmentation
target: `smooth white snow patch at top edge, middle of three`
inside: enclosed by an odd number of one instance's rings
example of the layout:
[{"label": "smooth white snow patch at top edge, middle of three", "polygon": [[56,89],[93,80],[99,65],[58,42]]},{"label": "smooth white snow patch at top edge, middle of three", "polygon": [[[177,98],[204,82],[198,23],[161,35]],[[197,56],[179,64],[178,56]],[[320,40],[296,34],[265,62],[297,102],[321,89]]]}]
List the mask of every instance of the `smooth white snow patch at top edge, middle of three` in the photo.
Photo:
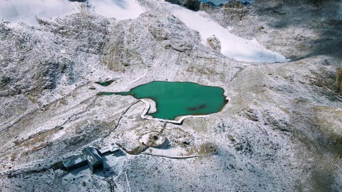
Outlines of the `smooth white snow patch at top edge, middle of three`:
[{"label": "smooth white snow patch at top edge, middle of three", "polygon": [[143,8],[136,0],[89,0],[96,13],[118,20],[136,18]]}]

